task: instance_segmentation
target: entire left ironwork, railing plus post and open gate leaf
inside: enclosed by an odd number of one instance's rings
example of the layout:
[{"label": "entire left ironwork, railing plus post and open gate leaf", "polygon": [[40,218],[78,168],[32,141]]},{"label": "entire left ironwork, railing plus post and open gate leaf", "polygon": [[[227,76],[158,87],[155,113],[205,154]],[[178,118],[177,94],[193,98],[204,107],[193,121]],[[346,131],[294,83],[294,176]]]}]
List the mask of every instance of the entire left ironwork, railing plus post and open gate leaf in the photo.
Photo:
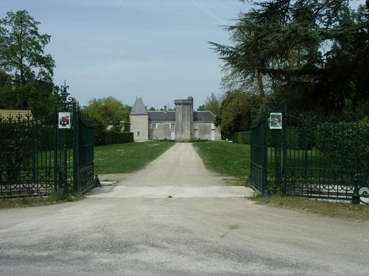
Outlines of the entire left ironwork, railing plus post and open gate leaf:
[{"label": "entire left ironwork, railing plus post and open gate leaf", "polygon": [[54,114],[0,116],[0,196],[84,192],[94,180],[94,127],[62,86]]}]

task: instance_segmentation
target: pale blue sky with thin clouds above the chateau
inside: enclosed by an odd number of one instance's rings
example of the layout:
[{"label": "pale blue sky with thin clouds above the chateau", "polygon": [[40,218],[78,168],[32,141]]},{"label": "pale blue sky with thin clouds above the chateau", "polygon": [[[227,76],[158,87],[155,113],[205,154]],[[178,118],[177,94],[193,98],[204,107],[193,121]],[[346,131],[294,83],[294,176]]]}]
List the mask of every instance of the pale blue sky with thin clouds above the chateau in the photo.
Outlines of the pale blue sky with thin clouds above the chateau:
[{"label": "pale blue sky with thin clouds above the chateau", "polygon": [[206,41],[230,44],[221,26],[233,25],[249,4],[238,0],[1,0],[0,18],[27,10],[51,35],[54,82],[81,105],[113,96],[133,105],[194,108],[219,92],[221,61]]}]

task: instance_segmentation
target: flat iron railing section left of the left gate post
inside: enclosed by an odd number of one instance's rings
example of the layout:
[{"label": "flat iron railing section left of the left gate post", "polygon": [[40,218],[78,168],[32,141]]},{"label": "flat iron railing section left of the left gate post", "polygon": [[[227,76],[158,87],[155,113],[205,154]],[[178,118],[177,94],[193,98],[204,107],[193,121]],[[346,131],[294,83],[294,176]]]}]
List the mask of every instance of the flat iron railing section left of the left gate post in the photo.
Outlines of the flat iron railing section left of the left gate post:
[{"label": "flat iron railing section left of the left gate post", "polygon": [[48,194],[54,188],[53,116],[0,116],[0,196]]}]

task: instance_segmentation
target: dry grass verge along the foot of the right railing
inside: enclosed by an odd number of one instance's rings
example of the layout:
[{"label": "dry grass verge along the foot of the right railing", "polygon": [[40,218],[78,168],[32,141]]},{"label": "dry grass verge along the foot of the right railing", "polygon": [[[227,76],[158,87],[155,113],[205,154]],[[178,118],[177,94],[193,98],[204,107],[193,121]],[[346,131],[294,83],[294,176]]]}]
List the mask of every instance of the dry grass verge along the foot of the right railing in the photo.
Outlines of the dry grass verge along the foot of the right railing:
[{"label": "dry grass verge along the foot of the right railing", "polygon": [[267,205],[270,207],[369,221],[369,205],[355,205],[351,202],[308,199],[297,196],[282,195],[272,195],[270,197],[263,198],[258,194],[253,197],[248,197],[247,199],[254,201],[256,204]]}]

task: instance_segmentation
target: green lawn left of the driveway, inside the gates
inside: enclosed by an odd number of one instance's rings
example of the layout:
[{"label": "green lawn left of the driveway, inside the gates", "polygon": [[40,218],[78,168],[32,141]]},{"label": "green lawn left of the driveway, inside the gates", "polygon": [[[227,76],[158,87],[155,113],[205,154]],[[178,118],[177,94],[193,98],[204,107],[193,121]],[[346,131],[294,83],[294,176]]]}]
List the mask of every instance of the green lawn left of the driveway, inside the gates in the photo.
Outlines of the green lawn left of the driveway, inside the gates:
[{"label": "green lawn left of the driveway, inside the gates", "polygon": [[95,147],[95,174],[132,173],[145,168],[174,143],[135,142]]}]

